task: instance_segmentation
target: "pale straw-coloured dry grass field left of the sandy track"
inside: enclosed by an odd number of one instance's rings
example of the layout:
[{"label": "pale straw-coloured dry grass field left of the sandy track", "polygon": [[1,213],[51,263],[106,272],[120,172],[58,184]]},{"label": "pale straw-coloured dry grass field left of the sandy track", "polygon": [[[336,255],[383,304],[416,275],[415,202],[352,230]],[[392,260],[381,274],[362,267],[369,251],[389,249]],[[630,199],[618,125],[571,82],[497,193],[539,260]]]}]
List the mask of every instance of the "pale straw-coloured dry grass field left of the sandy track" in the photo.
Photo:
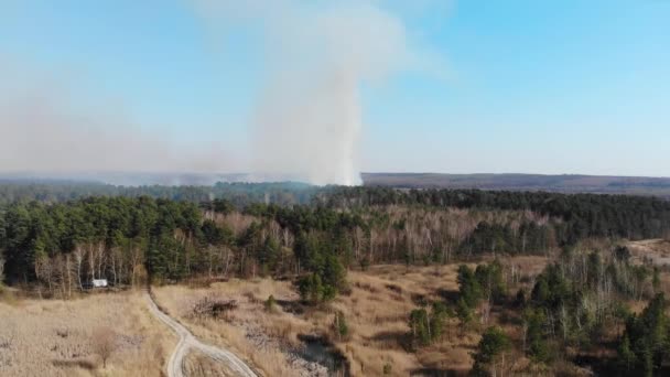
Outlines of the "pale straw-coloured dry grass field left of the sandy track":
[{"label": "pale straw-coloured dry grass field left of the sandy track", "polygon": [[[95,352],[100,333],[111,334],[106,367]],[[162,376],[175,343],[140,292],[0,298],[0,376]]]}]

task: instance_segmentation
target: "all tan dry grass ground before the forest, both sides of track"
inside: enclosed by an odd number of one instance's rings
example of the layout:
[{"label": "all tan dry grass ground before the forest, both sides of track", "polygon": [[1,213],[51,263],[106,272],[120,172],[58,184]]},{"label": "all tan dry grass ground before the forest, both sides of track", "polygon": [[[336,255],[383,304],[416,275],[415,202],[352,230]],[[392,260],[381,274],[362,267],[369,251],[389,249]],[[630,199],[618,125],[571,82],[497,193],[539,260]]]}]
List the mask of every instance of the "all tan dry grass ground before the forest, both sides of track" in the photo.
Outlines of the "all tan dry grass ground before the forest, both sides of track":
[{"label": "all tan dry grass ground before the forest, both sides of track", "polygon": [[[663,245],[641,244],[650,249]],[[530,289],[549,260],[505,258],[504,276],[515,279],[516,287]],[[502,326],[514,342],[521,337],[518,326],[511,324],[517,314],[495,309],[488,323],[477,316],[468,328],[451,319],[440,341],[411,349],[409,313],[422,302],[454,303],[457,268],[456,263],[375,266],[367,271],[349,271],[347,291],[321,308],[301,304],[291,281],[272,279],[163,286],[154,288],[153,293],[161,308],[195,336],[234,352],[262,376],[328,376],[327,369],[304,351],[305,338],[329,344],[344,357],[352,376],[457,376],[472,368],[471,354],[485,326]],[[661,278],[663,288],[670,287],[669,274],[662,273]],[[163,375],[176,338],[151,315],[141,292],[61,301],[17,299],[7,291],[0,292],[0,376]],[[272,306],[267,305],[270,295],[275,300]],[[203,303],[213,302],[223,306],[212,313],[202,311],[212,308]],[[646,302],[629,304],[638,312]],[[334,330],[336,313],[343,313],[347,322],[348,334],[344,337]],[[114,331],[118,347],[107,367],[94,351],[94,334],[105,327]],[[191,376],[226,375],[221,365],[197,352],[187,355],[184,367]],[[555,370],[586,373],[570,365],[559,365]],[[523,355],[514,354],[508,373],[542,375],[547,370],[529,368]]]}]

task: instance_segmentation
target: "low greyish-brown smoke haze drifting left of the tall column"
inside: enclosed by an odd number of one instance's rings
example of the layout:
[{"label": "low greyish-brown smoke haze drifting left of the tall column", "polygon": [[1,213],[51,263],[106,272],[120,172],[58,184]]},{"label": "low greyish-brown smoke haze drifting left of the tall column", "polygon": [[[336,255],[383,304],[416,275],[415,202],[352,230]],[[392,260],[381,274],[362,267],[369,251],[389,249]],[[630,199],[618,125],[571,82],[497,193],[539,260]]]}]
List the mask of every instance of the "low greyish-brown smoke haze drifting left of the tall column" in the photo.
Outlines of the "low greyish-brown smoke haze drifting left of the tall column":
[{"label": "low greyish-brown smoke haze drifting left of the tall column", "polygon": [[214,149],[191,152],[164,132],[143,131],[121,106],[96,105],[87,95],[94,97],[64,79],[0,62],[0,172],[215,172],[229,161]]}]

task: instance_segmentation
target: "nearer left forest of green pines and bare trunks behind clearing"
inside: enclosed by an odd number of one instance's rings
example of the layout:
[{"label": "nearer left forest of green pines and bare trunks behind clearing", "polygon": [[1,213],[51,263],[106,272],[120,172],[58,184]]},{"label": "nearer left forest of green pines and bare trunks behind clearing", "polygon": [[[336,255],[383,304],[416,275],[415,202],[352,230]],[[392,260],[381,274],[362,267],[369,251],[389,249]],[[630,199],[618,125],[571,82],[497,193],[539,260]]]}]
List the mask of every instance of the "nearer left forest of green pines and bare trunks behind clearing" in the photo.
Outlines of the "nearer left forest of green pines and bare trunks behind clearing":
[{"label": "nearer left forest of green pines and bare trunks behind clearing", "polygon": [[0,267],[10,283],[39,283],[62,297],[102,278],[137,284],[291,273],[305,279],[310,300],[342,288],[359,219],[295,206],[279,226],[231,212],[229,202],[214,204],[216,212],[148,196],[13,203],[0,209]]}]

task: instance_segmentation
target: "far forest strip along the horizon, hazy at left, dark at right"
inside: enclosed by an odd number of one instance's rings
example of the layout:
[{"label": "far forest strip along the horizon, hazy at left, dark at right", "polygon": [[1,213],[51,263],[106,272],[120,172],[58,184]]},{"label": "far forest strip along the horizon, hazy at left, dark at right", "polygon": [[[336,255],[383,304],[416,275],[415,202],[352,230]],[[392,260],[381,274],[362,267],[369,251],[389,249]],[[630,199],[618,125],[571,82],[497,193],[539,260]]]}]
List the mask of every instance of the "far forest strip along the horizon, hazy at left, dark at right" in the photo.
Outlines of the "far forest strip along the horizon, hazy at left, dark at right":
[{"label": "far forest strip along the horizon, hazy at left, dark at right", "polygon": [[479,190],[395,190],[385,187],[311,186],[302,183],[217,183],[214,186],[125,187],[72,182],[25,184],[0,182],[0,205],[37,201],[62,203],[89,196],[164,198],[196,204],[225,200],[241,211],[252,204],[366,208],[423,206],[482,211],[530,211],[561,219],[559,244],[586,237],[656,238],[668,235],[670,201],[630,195],[559,194]]}]

